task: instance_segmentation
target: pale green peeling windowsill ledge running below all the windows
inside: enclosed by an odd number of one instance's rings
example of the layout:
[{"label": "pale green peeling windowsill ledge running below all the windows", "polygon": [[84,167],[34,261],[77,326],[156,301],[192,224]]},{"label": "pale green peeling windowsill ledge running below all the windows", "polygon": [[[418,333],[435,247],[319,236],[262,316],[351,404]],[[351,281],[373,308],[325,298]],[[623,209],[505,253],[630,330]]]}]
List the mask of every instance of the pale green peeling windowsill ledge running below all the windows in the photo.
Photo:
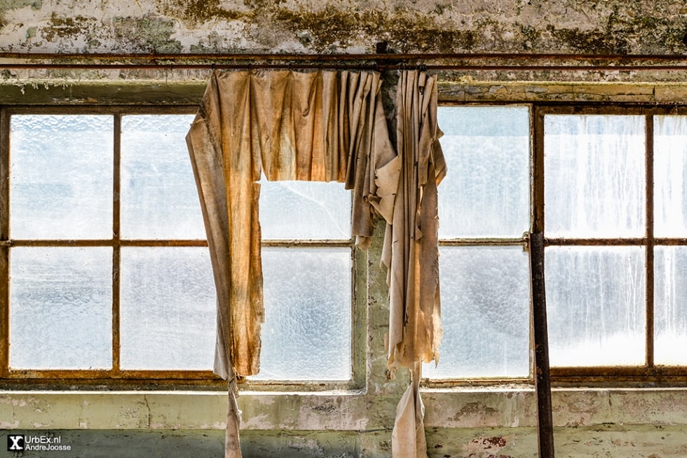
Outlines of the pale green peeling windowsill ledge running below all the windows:
[{"label": "pale green peeling windowsill ledge running below all the windows", "polygon": [[[423,389],[428,428],[533,427],[532,388]],[[399,394],[244,391],[243,429],[362,431],[392,416]],[[0,391],[0,429],[224,429],[217,391]],[[684,388],[555,388],[555,426],[687,425]]]}]

